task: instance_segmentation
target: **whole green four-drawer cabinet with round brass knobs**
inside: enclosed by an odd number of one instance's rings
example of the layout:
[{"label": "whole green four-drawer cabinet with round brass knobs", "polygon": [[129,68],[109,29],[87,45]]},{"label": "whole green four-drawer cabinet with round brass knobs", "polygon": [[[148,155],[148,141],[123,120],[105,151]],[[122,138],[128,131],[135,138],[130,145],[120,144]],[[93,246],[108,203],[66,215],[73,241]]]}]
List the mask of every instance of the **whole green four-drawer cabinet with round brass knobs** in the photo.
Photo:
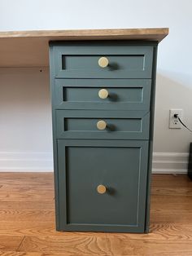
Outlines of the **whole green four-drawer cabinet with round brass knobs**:
[{"label": "whole green four-drawer cabinet with round brass knobs", "polygon": [[56,228],[148,232],[157,42],[51,42]]}]

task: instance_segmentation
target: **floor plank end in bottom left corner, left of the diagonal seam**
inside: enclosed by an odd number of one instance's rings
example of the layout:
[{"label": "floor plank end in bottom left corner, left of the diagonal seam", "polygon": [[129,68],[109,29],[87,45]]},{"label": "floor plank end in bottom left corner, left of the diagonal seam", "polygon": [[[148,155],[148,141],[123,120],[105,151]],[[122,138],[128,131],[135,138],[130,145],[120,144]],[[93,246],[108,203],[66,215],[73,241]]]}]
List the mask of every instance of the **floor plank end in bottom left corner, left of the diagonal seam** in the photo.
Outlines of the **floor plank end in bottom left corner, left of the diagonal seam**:
[{"label": "floor plank end in bottom left corner, left of the diagonal seam", "polygon": [[0,235],[0,251],[16,250],[19,248],[24,236]]}]

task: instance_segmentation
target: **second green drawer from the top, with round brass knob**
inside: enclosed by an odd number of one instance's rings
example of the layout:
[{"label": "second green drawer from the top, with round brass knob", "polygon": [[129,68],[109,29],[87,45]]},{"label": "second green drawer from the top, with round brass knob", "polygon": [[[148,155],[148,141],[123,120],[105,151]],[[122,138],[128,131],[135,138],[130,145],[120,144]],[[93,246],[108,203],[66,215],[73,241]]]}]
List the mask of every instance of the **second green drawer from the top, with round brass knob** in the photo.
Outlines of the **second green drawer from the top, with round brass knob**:
[{"label": "second green drawer from the top, with round brass knob", "polygon": [[55,80],[53,104],[58,109],[149,110],[150,102],[151,79]]}]

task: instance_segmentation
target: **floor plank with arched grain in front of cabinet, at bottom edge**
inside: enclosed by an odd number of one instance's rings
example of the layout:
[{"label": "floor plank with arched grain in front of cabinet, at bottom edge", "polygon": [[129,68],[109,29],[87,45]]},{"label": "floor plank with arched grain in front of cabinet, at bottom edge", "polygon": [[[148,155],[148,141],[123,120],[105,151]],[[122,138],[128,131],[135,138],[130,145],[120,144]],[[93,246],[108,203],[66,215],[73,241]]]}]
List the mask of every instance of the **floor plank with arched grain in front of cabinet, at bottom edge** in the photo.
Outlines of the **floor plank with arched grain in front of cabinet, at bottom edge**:
[{"label": "floor plank with arched grain in front of cabinet, at bottom edge", "polygon": [[111,255],[107,239],[96,236],[25,236],[20,251],[58,252],[62,255]]}]

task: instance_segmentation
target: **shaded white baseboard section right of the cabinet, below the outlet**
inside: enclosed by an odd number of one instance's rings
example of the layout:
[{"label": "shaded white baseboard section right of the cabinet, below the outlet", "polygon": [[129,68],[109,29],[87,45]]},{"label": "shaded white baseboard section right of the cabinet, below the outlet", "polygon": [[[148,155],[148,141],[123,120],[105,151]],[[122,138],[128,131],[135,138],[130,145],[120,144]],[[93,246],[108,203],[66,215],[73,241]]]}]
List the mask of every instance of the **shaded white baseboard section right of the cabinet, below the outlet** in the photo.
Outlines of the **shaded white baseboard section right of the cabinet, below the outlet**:
[{"label": "shaded white baseboard section right of the cabinet, below the outlet", "polygon": [[153,174],[186,174],[189,153],[154,152]]}]

